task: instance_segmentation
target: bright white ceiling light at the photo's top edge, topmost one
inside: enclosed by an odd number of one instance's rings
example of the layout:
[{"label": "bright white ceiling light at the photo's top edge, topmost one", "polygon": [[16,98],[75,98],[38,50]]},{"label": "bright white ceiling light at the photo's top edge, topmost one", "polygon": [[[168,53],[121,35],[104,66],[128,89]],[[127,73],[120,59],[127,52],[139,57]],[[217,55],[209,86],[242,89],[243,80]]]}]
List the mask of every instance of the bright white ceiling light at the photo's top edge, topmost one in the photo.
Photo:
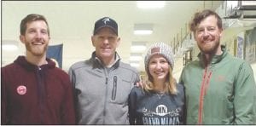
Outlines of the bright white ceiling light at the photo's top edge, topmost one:
[{"label": "bright white ceiling light at the photo's top edge, topmost one", "polygon": [[165,1],[137,1],[139,9],[160,9],[165,7]]}]

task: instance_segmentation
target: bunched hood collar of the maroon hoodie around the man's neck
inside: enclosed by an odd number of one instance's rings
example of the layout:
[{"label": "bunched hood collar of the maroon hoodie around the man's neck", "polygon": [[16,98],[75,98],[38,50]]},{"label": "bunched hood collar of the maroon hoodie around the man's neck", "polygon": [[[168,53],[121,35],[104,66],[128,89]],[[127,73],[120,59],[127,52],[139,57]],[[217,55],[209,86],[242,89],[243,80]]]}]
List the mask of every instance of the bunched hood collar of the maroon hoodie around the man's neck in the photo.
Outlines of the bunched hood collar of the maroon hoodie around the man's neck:
[{"label": "bunched hood collar of the maroon hoodie around the man's neck", "polygon": [[[52,69],[55,68],[55,62],[52,60],[49,60],[49,58],[46,58],[48,64],[39,66],[41,69]],[[19,64],[20,66],[23,66],[26,70],[37,70],[38,66],[33,65],[32,63],[28,62],[25,58],[25,56],[19,56],[16,60],[15,63]]]}]

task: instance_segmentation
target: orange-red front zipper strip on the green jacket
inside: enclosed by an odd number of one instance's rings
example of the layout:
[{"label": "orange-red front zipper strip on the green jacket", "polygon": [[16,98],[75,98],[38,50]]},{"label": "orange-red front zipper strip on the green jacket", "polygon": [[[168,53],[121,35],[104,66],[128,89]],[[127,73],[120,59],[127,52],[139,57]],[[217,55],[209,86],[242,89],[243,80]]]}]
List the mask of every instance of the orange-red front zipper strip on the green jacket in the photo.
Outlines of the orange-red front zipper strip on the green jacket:
[{"label": "orange-red front zipper strip on the green jacket", "polygon": [[204,76],[203,76],[202,83],[201,83],[199,109],[198,109],[198,124],[202,124],[204,96],[207,94],[207,89],[209,87],[210,79],[212,77],[212,72],[209,72],[209,74],[207,76],[207,70],[208,70],[208,67],[206,68],[206,70],[204,72]]}]

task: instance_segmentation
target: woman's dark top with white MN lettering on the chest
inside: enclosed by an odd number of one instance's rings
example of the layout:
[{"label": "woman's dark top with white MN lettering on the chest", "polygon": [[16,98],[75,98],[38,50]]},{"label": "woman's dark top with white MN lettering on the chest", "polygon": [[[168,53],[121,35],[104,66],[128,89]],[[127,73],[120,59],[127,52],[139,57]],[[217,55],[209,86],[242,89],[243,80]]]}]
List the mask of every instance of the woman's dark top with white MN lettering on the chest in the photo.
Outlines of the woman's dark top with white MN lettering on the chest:
[{"label": "woman's dark top with white MN lettering on the chest", "polygon": [[158,94],[137,87],[131,89],[130,124],[184,124],[183,85],[177,84],[177,91],[177,94]]}]

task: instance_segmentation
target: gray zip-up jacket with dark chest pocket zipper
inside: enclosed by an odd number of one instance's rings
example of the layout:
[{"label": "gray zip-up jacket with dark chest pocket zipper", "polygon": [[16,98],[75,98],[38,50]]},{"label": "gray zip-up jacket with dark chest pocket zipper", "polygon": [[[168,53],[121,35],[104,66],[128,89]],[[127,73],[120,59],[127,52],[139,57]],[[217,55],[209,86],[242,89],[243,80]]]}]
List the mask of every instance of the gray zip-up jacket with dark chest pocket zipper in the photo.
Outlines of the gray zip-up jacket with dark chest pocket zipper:
[{"label": "gray zip-up jacket with dark chest pocket zipper", "polygon": [[139,80],[135,68],[120,61],[110,68],[92,53],[90,60],[70,67],[78,124],[129,124],[128,96]]}]

